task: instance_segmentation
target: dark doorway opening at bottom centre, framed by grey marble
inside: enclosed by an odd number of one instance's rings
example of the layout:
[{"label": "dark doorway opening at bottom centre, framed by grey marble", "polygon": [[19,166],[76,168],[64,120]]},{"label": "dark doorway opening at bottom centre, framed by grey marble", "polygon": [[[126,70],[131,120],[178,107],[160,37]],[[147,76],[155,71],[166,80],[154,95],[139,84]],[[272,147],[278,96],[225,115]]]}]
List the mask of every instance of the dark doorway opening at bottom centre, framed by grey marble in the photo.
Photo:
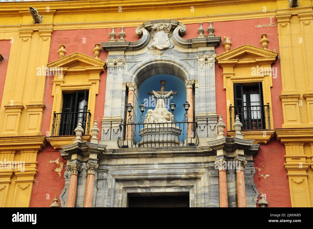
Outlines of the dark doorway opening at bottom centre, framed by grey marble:
[{"label": "dark doorway opening at bottom centre, framed by grey marble", "polygon": [[129,207],[189,207],[189,196],[130,197]]}]

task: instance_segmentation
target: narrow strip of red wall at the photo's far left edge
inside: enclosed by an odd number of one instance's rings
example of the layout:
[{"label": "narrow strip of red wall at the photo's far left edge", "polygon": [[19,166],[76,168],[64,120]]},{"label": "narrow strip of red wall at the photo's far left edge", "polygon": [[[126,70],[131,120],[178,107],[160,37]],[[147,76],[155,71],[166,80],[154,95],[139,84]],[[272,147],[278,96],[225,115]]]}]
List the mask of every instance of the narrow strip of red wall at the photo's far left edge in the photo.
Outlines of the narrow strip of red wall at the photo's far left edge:
[{"label": "narrow strip of red wall at the photo's far left edge", "polygon": [[[10,40],[0,41],[0,54],[3,57],[3,60],[0,63],[0,103],[2,102],[3,88],[4,88],[5,78],[7,76],[10,49],[11,49]],[[10,101],[4,101],[4,103],[8,103],[8,102]],[[1,105],[4,106],[7,104],[1,104]]]}]

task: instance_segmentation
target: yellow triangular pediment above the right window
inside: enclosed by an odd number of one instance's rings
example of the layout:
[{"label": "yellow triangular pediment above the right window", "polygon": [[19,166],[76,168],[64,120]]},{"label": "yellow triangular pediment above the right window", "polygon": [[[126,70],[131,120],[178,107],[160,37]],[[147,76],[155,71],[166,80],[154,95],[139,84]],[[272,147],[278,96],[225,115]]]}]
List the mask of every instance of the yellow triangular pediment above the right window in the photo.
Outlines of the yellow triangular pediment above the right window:
[{"label": "yellow triangular pediment above the right window", "polygon": [[274,61],[277,59],[278,53],[255,47],[252,45],[243,45],[235,49],[224,52],[216,57],[218,63],[229,62],[255,62],[255,61]]}]

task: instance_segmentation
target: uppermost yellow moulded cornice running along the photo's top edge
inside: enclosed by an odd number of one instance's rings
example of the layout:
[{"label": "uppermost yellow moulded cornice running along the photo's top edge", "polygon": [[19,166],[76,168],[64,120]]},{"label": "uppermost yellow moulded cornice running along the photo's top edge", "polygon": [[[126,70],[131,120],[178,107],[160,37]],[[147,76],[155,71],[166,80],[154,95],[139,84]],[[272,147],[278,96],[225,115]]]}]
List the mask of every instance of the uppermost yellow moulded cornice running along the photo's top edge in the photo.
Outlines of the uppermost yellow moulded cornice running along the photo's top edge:
[{"label": "uppermost yellow moulded cornice running along the photo's top edge", "polygon": [[[253,0],[238,0],[236,4],[249,4],[254,3]],[[268,0],[259,0],[258,3],[268,2]],[[54,13],[56,10],[58,13],[72,13],[73,9],[75,13],[87,13],[90,11],[94,12],[117,12],[119,6],[123,8],[123,12],[136,11],[136,10],[158,10],[168,9],[169,4],[171,7],[186,9],[193,7],[203,7],[206,6],[225,6],[227,4],[232,5],[231,0],[175,0],[169,3],[168,1],[162,0],[143,0],[134,4],[132,0],[126,0],[123,2],[116,2],[113,0],[71,0],[71,1],[49,1],[49,10]],[[35,7],[39,13],[48,14],[46,12],[47,2],[32,2],[32,6]],[[28,13],[29,2],[2,2],[0,13],[10,14],[11,16],[23,15]]]}]

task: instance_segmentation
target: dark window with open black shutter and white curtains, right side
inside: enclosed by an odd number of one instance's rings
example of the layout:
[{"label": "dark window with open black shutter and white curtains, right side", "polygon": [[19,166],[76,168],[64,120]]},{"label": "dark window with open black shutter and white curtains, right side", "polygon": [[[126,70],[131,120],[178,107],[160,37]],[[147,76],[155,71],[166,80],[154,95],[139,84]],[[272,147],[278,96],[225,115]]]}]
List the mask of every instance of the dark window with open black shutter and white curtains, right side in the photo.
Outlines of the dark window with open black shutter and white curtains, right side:
[{"label": "dark window with open black shutter and white curtains, right side", "polygon": [[265,129],[262,83],[234,83],[234,112],[239,115],[243,130]]}]

